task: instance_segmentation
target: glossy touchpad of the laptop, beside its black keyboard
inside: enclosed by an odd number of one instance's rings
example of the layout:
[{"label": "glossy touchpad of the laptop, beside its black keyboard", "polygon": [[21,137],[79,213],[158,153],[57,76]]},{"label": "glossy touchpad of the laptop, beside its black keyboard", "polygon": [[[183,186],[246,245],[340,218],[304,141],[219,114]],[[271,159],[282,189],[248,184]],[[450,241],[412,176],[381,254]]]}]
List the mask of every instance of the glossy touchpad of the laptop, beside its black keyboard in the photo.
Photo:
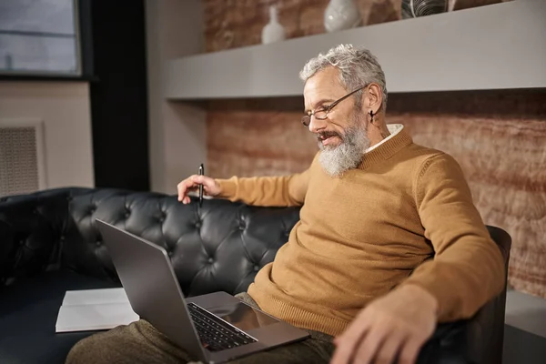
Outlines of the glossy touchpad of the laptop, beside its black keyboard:
[{"label": "glossy touchpad of the laptop, beside its black keyboard", "polygon": [[243,302],[217,308],[207,308],[207,310],[243,331],[263,328],[278,322],[278,319],[273,319]]}]

